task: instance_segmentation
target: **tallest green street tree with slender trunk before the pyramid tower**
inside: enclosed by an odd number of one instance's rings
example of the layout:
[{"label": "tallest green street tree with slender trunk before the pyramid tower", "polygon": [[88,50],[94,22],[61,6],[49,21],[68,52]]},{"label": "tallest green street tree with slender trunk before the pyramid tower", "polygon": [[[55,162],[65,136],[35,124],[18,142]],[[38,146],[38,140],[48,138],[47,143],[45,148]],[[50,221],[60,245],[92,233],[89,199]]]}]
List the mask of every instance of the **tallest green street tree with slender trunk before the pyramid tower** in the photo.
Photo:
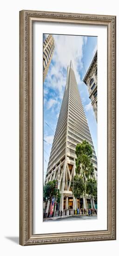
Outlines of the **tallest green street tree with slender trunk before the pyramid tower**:
[{"label": "tallest green street tree with slender trunk before the pyramid tower", "polygon": [[87,141],[83,141],[82,143],[77,144],[76,173],[81,174],[84,179],[84,183],[85,183],[84,197],[86,201],[87,215],[88,215],[88,209],[87,209],[87,200],[86,200],[86,181],[91,176],[93,176],[93,173],[94,173],[93,163],[91,162],[92,154],[93,154],[93,150]]}]

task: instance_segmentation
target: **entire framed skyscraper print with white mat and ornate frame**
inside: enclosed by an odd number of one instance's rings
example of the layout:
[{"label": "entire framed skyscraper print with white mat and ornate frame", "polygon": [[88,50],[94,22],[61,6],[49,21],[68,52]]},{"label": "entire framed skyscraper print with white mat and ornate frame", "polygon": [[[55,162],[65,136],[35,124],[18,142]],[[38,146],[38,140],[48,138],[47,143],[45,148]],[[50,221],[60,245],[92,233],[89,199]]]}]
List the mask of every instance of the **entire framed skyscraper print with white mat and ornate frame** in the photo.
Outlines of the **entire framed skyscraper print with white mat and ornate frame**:
[{"label": "entire framed skyscraper print with white mat and ornate frame", "polygon": [[20,244],[116,239],[116,17],[20,11]]}]

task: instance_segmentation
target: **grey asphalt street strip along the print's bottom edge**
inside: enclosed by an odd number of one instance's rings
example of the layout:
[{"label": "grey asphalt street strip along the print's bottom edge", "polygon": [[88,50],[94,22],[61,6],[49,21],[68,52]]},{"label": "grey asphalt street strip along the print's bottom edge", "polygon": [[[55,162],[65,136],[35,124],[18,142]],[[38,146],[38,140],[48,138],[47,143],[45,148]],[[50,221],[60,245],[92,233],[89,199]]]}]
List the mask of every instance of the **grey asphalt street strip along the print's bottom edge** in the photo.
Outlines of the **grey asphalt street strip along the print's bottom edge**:
[{"label": "grey asphalt street strip along the print's bottom edge", "polygon": [[44,222],[47,221],[75,221],[75,220],[96,220],[97,216],[69,216],[69,217],[62,217],[62,218],[58,218],[58,219],[53,219],[53,218],[48,218],[48,219],[44,219]]}]

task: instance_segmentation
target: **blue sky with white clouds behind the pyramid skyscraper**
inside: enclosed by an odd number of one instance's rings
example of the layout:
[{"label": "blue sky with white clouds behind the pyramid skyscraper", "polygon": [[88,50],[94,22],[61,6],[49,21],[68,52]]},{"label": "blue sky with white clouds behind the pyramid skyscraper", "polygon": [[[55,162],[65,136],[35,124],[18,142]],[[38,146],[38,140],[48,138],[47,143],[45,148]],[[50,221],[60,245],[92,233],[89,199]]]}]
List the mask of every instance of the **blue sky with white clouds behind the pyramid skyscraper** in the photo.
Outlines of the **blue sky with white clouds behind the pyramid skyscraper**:
[{"label": "blue sky with white clouds behind the pyramid skyscraper", "polygon": [[[43,35],[43,40],[48,34]],[[97,37],[53,35],[55,48],[53,58],[43,84],[44,91],[44,177],[52,148],[60,106],[66,86],[66,70],[70,61],[78,83],[88,126],[97,155],[97,122],[94,116],[88,89],[82,81],[97,50]]]}]

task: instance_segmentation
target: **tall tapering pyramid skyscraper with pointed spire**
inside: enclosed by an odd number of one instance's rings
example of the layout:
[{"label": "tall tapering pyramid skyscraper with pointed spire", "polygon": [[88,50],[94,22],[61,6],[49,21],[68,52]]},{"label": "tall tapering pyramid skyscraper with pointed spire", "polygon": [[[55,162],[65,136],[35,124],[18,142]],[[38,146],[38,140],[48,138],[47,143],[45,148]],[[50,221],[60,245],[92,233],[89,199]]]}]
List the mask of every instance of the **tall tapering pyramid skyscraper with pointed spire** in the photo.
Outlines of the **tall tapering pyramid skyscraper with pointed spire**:
[{"label": "tall tapering pyramid skyscraper with pointed spire", "polygon": [[[83,197],[80,200],[74,198],[71,189],[71,182],[76,174],[75,148],[79,142],[84,140],[88,141],[93,149],[92,162],[94,175],[97,178],[97,157],[71,61],[70,66],[67,67],[66,88],[45,179],[45,184],[53,180],[59,180],[60,182],[60,211],[81,208],[82,205],[86,208],[85,198]],[[91,199],[88,197],[87,203],[91,203]]]}]

